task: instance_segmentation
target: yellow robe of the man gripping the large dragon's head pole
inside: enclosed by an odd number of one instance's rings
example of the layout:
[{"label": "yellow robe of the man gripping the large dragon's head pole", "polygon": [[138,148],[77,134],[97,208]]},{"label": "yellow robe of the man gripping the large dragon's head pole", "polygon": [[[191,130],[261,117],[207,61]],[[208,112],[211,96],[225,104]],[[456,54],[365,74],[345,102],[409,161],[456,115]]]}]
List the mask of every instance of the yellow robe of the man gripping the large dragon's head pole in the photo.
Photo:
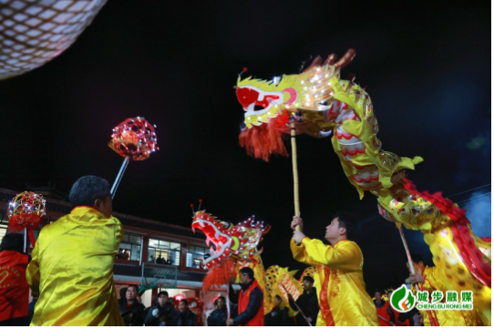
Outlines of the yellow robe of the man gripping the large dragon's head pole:
[{"label": "yellow robe of the man gripping the large dragon's head pole", "polygon": [[365,292],[364,256],[355,242],[333,247],[304,238],[300,246],[292,239],[290,247],[296,261],[317,267],[317,326],[379,326],[376,306]]}]

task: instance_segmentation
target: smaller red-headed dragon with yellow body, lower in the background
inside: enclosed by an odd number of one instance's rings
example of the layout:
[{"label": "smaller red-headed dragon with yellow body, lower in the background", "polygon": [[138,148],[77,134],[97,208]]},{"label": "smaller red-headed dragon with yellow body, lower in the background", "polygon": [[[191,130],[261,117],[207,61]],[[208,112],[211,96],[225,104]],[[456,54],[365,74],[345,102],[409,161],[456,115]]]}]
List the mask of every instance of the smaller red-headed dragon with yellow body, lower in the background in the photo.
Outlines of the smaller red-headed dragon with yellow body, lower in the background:
[{"label": "smaller red-headed dragon with yellow body, lower in the background", "polygon": [[196,229],[206,234],[208,246],[212,244],[211,256],[204,262],[209,270],[203,282],[205,291],[230,283],[242,268],[250,267],[264,293],[264,314],[273,311],[276,295],[290,307],[288,293],[296,300],[303,292],[301,283],[293,278],[295,272],[279,266],[264,270],[262,250],[257,246],[262,236],[270,231],[270,226],[264,226],[262,221],[256,222],[252,217],[233,226],[231,222],[216,220],[205,211],[197,211],[192,221],[192,230]]}]

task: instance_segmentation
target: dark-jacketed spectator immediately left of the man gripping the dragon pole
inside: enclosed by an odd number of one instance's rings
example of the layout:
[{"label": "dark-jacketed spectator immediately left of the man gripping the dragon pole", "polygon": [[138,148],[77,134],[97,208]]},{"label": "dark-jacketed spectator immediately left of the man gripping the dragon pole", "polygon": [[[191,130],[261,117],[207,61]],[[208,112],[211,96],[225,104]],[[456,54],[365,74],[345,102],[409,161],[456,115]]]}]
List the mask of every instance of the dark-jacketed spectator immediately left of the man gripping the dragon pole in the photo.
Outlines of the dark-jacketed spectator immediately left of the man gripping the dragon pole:
[{"label": "dark-jacketed spectator immediately left of the man gripping the dragon pole", "polygon": [[[302,293],[296,303],[302,312],[304,312],[307,320],[315,326],[317,315],[319,314],[319,302],[317,301],[317,291],[314,288],[314,278],[304,276],[302,286],[304,287],[304,293]],[[297,307],[293,303],[293,300],[290,301],[290,307],[292,307],[294,311],[298,311]],[[297,326],[309,326],[300,312],[296,316],[296,321]]]}]

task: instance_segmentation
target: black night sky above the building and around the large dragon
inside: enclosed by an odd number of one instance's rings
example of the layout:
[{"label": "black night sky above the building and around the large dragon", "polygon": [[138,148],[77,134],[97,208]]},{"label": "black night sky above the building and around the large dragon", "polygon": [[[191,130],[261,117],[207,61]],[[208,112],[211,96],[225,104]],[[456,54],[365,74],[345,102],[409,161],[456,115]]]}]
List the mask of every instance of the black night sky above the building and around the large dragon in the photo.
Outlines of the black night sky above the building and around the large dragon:
[{"label": "black night sky above the building and around the large dragon", "polygon": [[[203,199],[223,221],[255,214],[273,225],[265,265],[302,268],[288,247],[291,160],[239,147],[232,86],[242,67],[271,78],[349,47],[357,57],[344,76],[373,98],[383,148],[426,159],[411,173],[419,189],[448,196],[490,183],[490,1],[109,0],[61,56],[0,81],[0,187],[112,181],[122,159],[108,149],[111,129],[142,116],[158,126],[160,151],[129,165],[115,211],[189,226],[190,203]],[[368,290],[397,286],[406,256],[375,198],[358,200],[330,139],[298,142],[307,234],[322,239],[335,211],[354,211]],[[428,256],[421,235],[407,232],[412,252]]]}]

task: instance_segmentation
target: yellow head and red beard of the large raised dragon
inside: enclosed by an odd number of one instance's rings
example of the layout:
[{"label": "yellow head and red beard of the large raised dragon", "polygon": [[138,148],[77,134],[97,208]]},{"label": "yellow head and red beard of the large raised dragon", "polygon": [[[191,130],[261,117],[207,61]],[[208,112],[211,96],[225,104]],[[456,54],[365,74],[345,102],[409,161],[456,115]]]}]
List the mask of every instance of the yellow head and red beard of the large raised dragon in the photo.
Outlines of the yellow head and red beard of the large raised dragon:
[{"label": "yellow head and red beard of the large raised dragon", "polygon": [[[283,145],[283,134],[290,132],[289,117],[298,112],[323,112],[331,108],[334,89],[331,80],[340,79],[340,69],[355,57],[350,49],[337,63],[333,54],[323,63],[316,57],[299,75],[260,80],[239,77],[235,87],[237,98],[245,112],[245,128],[240,143],[249,155],[269,159],[271,154],[288,155]],[[314,122],[298,124],[299,133],[317,137],[327,136],[327,127]],[[305,127],[303,127],[305,126]]]}]

